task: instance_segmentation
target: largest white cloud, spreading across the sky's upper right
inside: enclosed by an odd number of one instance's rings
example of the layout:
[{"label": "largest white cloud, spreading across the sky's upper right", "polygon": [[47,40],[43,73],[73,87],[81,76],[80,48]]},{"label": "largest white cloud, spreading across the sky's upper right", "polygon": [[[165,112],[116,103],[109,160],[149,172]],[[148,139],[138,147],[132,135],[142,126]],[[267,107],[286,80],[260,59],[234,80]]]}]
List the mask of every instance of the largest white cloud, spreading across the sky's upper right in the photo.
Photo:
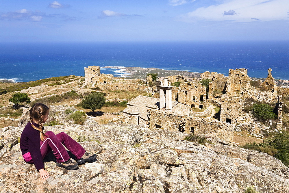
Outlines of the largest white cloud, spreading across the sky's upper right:
[{"label": "largest white cloud, spreading across the sky's upper right", "polygon": [[[229,11],[228,11],[229,10]],[[192,12],[181,15],[179,20],[185,22],[197,21],[262,21],[289,19],[288,0],[227,0],[218,5],[198,8]]]}]

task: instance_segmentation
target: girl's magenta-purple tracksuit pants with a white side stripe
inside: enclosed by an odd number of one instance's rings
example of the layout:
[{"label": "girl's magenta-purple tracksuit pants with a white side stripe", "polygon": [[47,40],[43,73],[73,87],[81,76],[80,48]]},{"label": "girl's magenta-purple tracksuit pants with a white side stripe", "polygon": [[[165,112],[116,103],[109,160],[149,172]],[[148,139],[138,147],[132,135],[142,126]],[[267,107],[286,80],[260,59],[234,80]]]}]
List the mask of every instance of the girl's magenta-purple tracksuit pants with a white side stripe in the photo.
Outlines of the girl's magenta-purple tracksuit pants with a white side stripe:
[{"label": "girl's magenta-purple tracksuit pants with a white side stripe", "polygon": [[[85,153],[85,149],[64,132],[55,135],[52,131],[47,131],[45,135],[49,137],[45,141],[40,141],[42,159],[53,151],[56,162],[66,162],[70,157],[64,146],[75,155],[76,159],[80,159]],[[33,164],[33,161],[31,160],[30,163]]]}]

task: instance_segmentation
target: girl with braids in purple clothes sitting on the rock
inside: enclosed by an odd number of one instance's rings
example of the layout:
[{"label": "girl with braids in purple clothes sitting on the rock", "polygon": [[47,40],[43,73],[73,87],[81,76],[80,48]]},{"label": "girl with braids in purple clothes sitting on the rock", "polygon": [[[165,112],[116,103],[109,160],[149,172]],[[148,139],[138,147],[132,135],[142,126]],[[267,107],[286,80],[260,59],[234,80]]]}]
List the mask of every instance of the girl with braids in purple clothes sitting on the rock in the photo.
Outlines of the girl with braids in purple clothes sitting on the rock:
[{"label": "girl with braids in purple clothes sitting on the rock", "polygon": [[[25,162],[34,164],[42,179],[48,179],[49,173],[44,168],[43,158],[53,151],[56,157],[56,166],[75,170],[78,164],[90,162],[96,158],[95,154],[89,154],[75,140],[66,133],[54,134],[52,131],[43,133],[43,124],[46,122],[49,108],[42,103],[36,103],[29,112],[30,122],[22,131],[20,149]],[[64,146],[76,157],[73,162]]]}]

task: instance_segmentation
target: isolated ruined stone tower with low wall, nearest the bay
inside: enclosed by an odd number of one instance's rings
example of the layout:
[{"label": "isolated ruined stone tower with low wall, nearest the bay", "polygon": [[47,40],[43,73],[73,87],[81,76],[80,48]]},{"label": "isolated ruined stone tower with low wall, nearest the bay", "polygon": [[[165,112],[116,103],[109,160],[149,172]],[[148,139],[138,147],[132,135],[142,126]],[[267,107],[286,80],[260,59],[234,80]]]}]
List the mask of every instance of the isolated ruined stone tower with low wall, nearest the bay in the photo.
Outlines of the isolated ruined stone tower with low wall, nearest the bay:
[{"label": "isolated ruined stone tower with low wall, nearest the bay", "polygon": [[88,83],[112,83],[113,75],[101,74],[99,66],[84,67],[85,80]]}]

